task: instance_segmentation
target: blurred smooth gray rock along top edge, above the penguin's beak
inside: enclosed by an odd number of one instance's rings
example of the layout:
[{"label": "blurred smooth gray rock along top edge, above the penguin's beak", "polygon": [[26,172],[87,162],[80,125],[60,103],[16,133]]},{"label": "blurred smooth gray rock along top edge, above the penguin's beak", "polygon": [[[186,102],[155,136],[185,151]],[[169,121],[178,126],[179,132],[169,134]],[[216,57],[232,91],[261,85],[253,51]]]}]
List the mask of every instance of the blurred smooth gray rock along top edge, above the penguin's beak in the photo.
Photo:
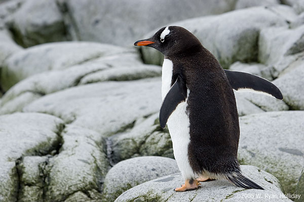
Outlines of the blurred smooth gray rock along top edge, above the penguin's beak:
[{"label": "blurred smooth gray rock along top edge, above the penguin's beak", "polygon": [[65,23],[71,27],[68,31],[75,39],[131,46],[143,34],[164,24],[231,11],[236,0],[193,1],[191,4],[181,0],[59,2],[66,12]]}]

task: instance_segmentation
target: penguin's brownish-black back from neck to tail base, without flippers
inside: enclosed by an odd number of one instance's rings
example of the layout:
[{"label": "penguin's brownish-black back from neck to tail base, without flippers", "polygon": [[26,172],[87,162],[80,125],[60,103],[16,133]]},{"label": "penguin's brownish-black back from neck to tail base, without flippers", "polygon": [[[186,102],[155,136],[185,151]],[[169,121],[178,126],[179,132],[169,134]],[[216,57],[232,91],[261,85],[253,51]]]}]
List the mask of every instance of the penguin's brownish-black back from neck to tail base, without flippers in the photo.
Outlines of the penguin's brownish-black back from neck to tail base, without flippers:
[{"label": "penguin's brownish-black back from neck to tail base, without flippers", "polygon": [[171,56],[173,77],[181,74],[190,90],[187,111],[190,121],[189,163],[201,173],[239,170],[239,118],[233,89],[215,57],[203,46],[184,56]]}]

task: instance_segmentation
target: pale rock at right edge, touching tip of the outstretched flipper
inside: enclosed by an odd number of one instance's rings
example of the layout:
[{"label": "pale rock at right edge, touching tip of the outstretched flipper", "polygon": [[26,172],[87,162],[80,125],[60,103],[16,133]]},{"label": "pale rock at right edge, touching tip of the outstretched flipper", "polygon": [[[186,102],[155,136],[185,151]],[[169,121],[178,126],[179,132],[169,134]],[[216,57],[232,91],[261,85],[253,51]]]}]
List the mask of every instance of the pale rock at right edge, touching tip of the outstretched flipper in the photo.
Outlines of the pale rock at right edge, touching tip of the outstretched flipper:
[{"label": "pale rock at right edge, touching tip of the outstretched flipper", "polygon": [[292,110],[304,110],[304,68],[303,60],[298,60],[294,67],[286,69],[285,74],[274,81],[284,96],[284,102]]}]

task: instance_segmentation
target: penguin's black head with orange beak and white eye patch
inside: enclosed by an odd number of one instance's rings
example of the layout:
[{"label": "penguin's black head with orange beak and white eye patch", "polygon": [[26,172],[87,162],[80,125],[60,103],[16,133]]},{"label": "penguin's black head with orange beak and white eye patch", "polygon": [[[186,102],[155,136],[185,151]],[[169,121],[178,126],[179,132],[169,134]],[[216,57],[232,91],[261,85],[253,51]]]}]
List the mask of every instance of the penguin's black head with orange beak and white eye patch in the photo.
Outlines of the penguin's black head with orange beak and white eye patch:
[{"label": "penguin's black head with orange beak and white eye patch", "polygon": [[160,51],[164,56],[180,55],[187,49],[202,46],[201,42],[188,30],[169,26],[158,30],[151,38],[138,40],[136,46],[149,46]]}]

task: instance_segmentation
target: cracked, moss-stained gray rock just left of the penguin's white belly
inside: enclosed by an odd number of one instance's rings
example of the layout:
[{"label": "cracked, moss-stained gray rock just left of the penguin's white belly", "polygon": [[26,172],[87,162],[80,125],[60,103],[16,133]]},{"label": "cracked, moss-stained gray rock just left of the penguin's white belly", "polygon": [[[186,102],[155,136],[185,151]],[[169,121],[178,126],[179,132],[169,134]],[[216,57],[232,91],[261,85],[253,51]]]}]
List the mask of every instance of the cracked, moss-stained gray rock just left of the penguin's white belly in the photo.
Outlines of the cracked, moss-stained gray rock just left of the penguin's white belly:
[{"label": "cracked, moss-stained gray rock just left of the penguin's white belly", "polygon": [[158,116],[138,119],[131,129],[109,138],[112,164],[137,156],[174,158],[168,129],[161,129]]}]

